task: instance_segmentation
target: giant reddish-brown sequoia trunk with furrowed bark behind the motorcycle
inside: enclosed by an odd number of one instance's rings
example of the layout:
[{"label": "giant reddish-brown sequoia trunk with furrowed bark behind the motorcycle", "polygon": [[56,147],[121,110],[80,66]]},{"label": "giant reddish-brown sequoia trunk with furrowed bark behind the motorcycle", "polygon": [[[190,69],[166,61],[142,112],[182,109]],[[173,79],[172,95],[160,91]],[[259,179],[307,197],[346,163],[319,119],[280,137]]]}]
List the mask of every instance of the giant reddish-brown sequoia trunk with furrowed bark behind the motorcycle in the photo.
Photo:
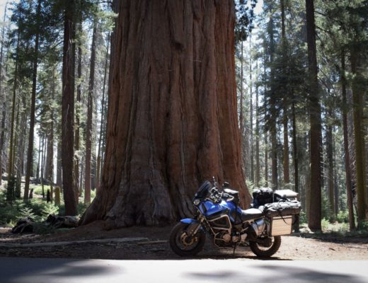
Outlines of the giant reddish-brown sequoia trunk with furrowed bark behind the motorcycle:
[{"label": "giant reddish-brown sequoia trunk with furrowed bark behind the motorcycle", "polygon": [[[117,4],[115,2],[115,4]],[[117,5],[100,190],[82,219],[157,225],[190,214],[203,180],[241,170],[233,1]]]}]

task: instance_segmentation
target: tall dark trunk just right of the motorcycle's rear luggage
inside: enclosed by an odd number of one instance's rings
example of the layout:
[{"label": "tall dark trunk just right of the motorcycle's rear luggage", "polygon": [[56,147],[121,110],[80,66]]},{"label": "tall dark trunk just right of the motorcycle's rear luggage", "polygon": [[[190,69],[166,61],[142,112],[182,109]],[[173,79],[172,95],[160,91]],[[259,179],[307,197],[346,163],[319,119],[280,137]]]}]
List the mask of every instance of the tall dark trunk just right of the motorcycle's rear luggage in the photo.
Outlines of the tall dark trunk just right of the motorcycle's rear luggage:
[{"label": "tall dark trunk just right of the motorcycle's rear luggage", "polygon": [[316,53],[316,26],[314,24],[314,0],[306,0],[306,33],[309,67],[309,120],[311,204],[308,226],[312,231],[321,231],[321,105],[318,94],[318,69]]}]

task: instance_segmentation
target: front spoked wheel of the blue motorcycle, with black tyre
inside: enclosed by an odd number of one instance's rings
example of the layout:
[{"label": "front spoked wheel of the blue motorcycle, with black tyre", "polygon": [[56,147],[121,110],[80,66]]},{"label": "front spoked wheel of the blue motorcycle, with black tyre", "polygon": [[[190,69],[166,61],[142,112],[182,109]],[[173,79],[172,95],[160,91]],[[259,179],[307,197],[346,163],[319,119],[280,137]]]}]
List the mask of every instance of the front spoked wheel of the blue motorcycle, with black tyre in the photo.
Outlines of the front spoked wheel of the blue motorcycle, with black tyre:
[{"label": "front spoked wheel of the blue motorcycle, with black tyre", "polygon": [[197,255],[205,246],[205,233],[200,230],[194,236],[189,236],[186,231],[188,226],[180,222],[171,231],[170,246],[180,256]]}]

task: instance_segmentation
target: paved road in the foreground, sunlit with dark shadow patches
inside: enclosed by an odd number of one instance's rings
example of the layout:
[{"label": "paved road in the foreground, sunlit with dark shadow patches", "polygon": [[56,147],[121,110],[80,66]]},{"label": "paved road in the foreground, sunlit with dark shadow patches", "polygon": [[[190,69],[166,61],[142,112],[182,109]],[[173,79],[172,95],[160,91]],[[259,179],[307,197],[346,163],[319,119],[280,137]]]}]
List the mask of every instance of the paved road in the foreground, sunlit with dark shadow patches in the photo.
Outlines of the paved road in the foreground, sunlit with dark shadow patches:
[{"label": "paved road in the foreground, sunlit with dark shadow patches", "polygon": [[367,283],[367,261],[0,258],[1,283]]}]

